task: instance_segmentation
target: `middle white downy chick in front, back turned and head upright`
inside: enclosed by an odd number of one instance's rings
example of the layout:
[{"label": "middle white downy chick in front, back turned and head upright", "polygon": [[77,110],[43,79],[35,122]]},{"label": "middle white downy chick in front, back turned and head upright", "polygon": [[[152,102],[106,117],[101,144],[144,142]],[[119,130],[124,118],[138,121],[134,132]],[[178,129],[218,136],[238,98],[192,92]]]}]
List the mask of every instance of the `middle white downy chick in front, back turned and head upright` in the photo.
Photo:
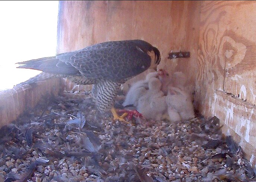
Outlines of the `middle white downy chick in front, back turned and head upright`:
[{"label": "middle white downy chick in front, back turned and head upright", "polygon": [[138,100],[137,110],[146,119],[161,120],[167,110],[165,96],[161,91],[161,81],[152,77],[148,86],[147,92]]}]

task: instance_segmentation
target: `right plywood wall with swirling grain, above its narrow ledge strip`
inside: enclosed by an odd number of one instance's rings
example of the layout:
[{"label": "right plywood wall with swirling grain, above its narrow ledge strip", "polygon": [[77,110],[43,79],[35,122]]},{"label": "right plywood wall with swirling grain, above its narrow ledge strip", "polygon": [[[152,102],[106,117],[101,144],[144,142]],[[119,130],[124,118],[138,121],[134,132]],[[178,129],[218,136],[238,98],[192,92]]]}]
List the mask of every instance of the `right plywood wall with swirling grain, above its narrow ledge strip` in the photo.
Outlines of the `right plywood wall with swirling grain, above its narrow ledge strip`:
[{"label": "right plywood wall with swirling grain, above its narrow ledge strip", "polygon": [[211,115],[214,90],[256,104],[255,8],[255,1],[202,3],[196,105],[205,116]]}]

